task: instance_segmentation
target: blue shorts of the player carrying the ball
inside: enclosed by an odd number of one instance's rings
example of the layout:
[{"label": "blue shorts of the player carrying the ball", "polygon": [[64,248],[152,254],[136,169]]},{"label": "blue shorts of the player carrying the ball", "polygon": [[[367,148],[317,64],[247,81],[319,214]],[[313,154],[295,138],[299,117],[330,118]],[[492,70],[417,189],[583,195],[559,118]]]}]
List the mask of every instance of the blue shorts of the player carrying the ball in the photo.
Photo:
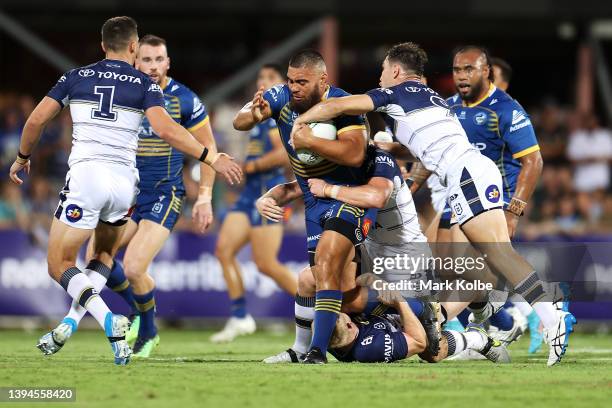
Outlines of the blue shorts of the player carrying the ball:
[{"label": "blue shorts of the player carrying the ball", "polygon": [[323,231],[336,231],[358,246],[365,240],[375,220],[376,210],[364,210],[333,199],[316,200],[306,208],[306,246],[311,258]]}]

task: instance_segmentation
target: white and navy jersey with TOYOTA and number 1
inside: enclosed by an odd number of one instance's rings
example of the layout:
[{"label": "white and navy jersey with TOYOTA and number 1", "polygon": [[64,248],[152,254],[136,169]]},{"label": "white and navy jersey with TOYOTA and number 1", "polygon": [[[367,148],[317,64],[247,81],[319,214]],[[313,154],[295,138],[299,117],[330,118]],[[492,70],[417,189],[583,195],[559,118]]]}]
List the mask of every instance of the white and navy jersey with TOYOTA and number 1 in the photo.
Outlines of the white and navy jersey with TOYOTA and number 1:
[{"label": "white and navy jersey with TOYOTA and number 1", "polygon": [[135,167],[144,112],[164,107],[162,90],[148,75],[110,59],[66,72],[47,96],[70,105],[69,166],[94,160]]}]

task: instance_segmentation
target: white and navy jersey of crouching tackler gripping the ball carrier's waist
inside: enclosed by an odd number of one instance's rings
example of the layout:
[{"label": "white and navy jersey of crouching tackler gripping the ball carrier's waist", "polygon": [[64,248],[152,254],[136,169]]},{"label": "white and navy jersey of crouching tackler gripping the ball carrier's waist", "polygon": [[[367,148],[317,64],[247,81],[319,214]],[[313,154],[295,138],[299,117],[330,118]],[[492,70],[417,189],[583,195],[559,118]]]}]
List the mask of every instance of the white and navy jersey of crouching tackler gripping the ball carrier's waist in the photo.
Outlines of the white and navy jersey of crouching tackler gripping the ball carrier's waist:
[{"label": "white and navy jersey of crouching tackler gripping the ball carrier's waist", "polygon": [[[371,149],[368,148],[369,155]],[[393,192],[384,208],[378,210],[374,228],[370,229],[367,239],[381,245],[427,242],[421,232],[412,194],[393,156],[376,149],[371,177],[390,180],[393,183]]]}]

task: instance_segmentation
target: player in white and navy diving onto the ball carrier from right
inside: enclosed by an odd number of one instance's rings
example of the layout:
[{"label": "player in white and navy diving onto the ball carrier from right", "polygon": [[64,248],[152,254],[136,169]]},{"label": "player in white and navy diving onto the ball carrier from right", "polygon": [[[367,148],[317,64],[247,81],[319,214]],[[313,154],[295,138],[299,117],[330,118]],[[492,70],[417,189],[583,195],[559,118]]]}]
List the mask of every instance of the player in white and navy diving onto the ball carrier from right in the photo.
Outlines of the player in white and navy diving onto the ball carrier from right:
[{"label": "player in white and navy diving onto the ball carrier from right", "polygon": [[[532,304],[545,327],[550,346],[548,365],[561,361],[573,316],[558,311],[547,296],[537,272],[510,244],[501,201],[501,174],[489,158],[468,141],[465,131],[448,105],[421,82],[427,54],[414,43],[393,46],[382,64],[380,85],[364,95],[322,101],[295,120],[294,146],[307,146],[300,135],[308,123],[322,122],[342,114],[383,113],[389,128],[425,168],[448,186],[447,202],[470,242],[487,256],[491,269]],[[550,295],[548,295],[550,298]],[[479,309],[486,304],[474,304]]]}]

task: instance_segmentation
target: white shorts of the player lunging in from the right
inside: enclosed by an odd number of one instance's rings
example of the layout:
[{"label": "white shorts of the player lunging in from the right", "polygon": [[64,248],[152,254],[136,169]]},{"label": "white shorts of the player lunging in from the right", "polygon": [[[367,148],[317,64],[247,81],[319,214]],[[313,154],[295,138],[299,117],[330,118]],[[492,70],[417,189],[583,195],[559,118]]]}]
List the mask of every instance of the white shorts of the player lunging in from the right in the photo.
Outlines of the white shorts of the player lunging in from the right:
[{"label": "white shorts of the player lunging in from the right", "polygon": [[478,152],[462,155],[449,167],[446,185],[452,224],[462,225],[482,212],[504,205],[499,169]]}]

